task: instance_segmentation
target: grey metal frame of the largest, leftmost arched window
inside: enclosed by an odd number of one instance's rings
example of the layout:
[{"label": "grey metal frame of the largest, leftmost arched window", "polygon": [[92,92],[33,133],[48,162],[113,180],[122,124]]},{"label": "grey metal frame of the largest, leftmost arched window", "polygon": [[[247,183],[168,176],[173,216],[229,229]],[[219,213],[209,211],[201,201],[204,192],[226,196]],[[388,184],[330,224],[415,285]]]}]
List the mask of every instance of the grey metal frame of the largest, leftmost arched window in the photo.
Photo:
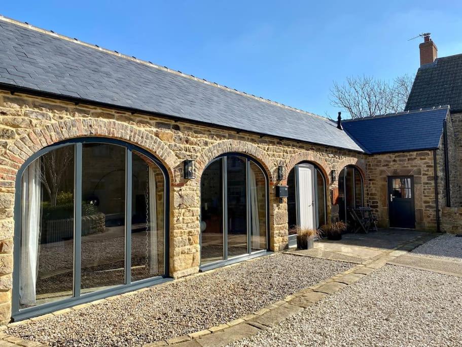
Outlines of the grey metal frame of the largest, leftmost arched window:
[{"label": "grey metal frame of the largest, leftmost arched window", "polygon": [[[100,291],[81,294],[81,217],[82,217],[82,150],[83,144],[87,143],[103,143],[119,145],[125,148],[125,275],[124,284],[116,285],[111,288]],[[21,196],[22,196],[22,176],[27,167],[34,160],[42,155],[62,148],[65,146],[74,145],[74,274],[73,274],[73,296],[55,302],[40,304],[33,307],[20,308],[19,290],[20,290],[20,261],[21,261]],[[132,152],[136,151],[146,155],[154,164],[158,166],[164,177],[164,274],[151,278],[141,279],[137,281],[131,280],[131,194],[132,194]],[[129,175],[130,174],[130,175]],[[129,197],[129,198],[128,198]],[[62,308],[90,302],[93,300],[102,299],[108,296],[118,295],[125,292],[137,290],[144,287],[156,285],[172,280],[169,277],[169,206],[170,206],[170,178],[167,169],[163,164],[149,151],[140,148],[136,145],[112,138],[102,137],[85,137],[70,139],[56,144],[47,146],[34,154],[32,154],[18,170],[15,182],[15,204],[14,215],[14,264],[13,267],[13,291],[12,291],[12,319],[14,321],[40,316],[45,313],[53,312]],[[80,231],[77,232],[77,231]],[[130,236],[130,237],[128,237]]]}]

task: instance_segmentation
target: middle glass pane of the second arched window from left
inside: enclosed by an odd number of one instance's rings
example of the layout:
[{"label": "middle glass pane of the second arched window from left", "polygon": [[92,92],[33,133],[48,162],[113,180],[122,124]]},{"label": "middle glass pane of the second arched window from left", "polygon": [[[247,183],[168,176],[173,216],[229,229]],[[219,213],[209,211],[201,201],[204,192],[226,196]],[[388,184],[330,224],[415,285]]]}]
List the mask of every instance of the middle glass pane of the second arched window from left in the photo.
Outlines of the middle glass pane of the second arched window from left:
[{"label": "middle glass pane of the second arched window from left", "polygon": [[247,253],[246,160],[229,156],[228,170],[228,258]]}]

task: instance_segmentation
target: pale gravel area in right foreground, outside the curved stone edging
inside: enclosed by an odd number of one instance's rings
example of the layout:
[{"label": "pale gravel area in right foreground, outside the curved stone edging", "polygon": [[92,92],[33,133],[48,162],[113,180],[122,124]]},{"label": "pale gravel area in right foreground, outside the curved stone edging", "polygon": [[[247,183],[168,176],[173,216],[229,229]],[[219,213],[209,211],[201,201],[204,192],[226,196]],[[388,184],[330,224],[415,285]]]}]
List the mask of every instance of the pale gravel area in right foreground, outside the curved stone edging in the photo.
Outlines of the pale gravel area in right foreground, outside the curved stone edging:
[{"label": "pale gravel area in right foreground, outside the curved stone edging", "polygon": [[230,346],[460,346],[462,278],[385,265]]}]

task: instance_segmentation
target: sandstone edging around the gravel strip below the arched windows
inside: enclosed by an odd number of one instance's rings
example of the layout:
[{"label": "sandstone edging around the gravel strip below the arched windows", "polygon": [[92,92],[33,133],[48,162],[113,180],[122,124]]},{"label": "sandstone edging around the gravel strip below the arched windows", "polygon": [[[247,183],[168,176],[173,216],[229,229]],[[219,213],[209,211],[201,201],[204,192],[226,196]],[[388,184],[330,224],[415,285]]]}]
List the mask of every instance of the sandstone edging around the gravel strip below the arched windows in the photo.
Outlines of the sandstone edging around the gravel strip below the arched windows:
[{"label": "sandstone edging around the gravel strip below the arched windows", "polygon": [[[269,329],[273,325],[293,316],[293,314],[296,314],[302,311],[308,306],[320,300],[323,300],[329,295],[335,294],[339,290],[353,284],[354,282],[360,280],[364,276],[372,273],[376,269],[381,268],[388,261],[393,260],[403,254],[408,253],[410,250],[416,248],[417,246],[425,242],[428,242],[429,240],[437,236],[439,235],[428,234],[428,235],[417,236],[411,239],[410,241],[406,241],[406,242],[399,244],[395,248],[384,251],[384,253],[365,261],[363,264],[357,264],[356,266],[353,266],[352,268],[346,271],[340,272],[328,279],[320,281],[310,287],[304,288],[292,295],[288,295],[282,300],[269,304],[251,314],[247,314],[246,316],[226,322],[224,324],[210,327],[205,330],[196,331],[188,335],[176,336],[176,337],[172,337],[166,340],[147,343],[147,344],[144,344],[144,346],[154,347],[154,346],[165,346],[165,345],[173,345],[173,344],[176,344],[177,347],[180,347],[182,344],[187,344],[188,346],[194,346],[194,345],[201,346],[202,344],[200,343],[201,342],[200,340],[206,339],[209,335],[211,336],[211,334],[214,334],[215,344],[223,345],[223,344],[231,343],[235,340],[240,340],[242,338],[252,336],[261,330]],[[268,257],[271,257],[272,255],[274,254],[268,255]],[[252,262],[257,259],[258,258],[250,259],[250,260],[247,260],[247,262]],[[341,260],[336,260],[336,261],[341,261]],[[239,264],[240,263],[235,263],[235,264],[224,266],[222,268],[230,268],[233,266],[237,266]],[[219,269],[222,269],[222,268],[219,268]],[[196,273],[191,276],[187,276],[187,277],[175,279],[173,281],[169,281],[166,283],[162,283],[160,285],[157,285],[156,287],[165,286],[172,282],[181,282],[181,281],[187,280],[188,278],[194,277],[194,276],[203,276],[208,273],[215,272],[219,269],[213,269],[213,270]],[[2,341],[3,343],[7,342],[8,345],[12,345],[12,346],[18,345],[18,346],[24,346],[24,347],[47,347],[47,345],[44,345],[37,341],[21,339],[16,336],[8,335],[7,333],[5,333],[5,330],[10,327],[31,323],[33,321],[40,321],[40,320],[43,320],[43,319],[46,319],[52,316],[60,316],[61,314],[65,314],[67,312],[79,310],[81,308],[85,308],[91,305],[97,305],[97,304],[100,304],[106,301],[116,300],[119,297],[131,296],[136,293],[144,292],[147,290],[149,290],[149,287],[141,288],[133,292],[128,292],[128,293],[112,296],[106,299],[96,300],[93,302],[76,305],[76,306],[69,307],[69,308],[64,308],[62,310],[58,310],[53,313],[44,314],[43,316],[34,317],[31,319],[10,323],[7,325],[2,325],[0,326],[0,341]],[[269,321],[273,322],[274,324],[262,323],[265,321],[265,319],[269,318],[270,315],[271,317]],[[242,329],[244,328],[243,327],[244,325],[246,326],[247,329]],[[239,331],[237,331],[237,329]],[[229,334],[225,334],[226,332],[229,332]]]}]

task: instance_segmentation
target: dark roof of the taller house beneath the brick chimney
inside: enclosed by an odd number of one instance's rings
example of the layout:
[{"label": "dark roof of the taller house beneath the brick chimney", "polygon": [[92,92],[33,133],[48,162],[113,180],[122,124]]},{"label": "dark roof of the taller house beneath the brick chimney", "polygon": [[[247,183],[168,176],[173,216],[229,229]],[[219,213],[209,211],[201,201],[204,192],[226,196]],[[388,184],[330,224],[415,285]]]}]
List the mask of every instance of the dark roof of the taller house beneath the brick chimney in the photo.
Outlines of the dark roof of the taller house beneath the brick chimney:
[{"label": "dark roof of the taller house beneath the brick chimney", "polygon": [[415,76],[405,110],[449,105],[462,111],[462,54],[437,58],[421,66]]}]

